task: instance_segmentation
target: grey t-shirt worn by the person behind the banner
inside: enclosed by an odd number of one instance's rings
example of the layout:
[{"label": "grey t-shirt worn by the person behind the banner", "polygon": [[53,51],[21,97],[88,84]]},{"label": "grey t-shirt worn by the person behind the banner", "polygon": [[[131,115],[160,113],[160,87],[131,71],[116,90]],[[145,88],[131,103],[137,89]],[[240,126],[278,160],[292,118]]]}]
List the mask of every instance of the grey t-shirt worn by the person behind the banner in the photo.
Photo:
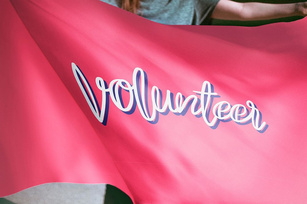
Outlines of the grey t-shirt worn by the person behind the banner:
[{"label": "grey t-shirt worn by the person behind the banner", "polygon": [[[120,7],[119,0],[101,0]],[[169,25],[210,25],[219,0],[141,0],[142,17]]]}]

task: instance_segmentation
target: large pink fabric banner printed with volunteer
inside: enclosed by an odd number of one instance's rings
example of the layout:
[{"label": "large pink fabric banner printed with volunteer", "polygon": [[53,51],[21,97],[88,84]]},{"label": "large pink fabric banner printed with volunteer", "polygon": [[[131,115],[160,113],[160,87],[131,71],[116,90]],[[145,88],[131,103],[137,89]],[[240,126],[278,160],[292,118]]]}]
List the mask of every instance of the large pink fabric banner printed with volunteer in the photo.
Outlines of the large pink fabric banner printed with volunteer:
[{"label": "large pink fabric banner printed with volunteer", "polygon": [[136,203],[307,202],[306,19],[170,26],[94,0],[0,15],[0,196],[72,182]]}]

